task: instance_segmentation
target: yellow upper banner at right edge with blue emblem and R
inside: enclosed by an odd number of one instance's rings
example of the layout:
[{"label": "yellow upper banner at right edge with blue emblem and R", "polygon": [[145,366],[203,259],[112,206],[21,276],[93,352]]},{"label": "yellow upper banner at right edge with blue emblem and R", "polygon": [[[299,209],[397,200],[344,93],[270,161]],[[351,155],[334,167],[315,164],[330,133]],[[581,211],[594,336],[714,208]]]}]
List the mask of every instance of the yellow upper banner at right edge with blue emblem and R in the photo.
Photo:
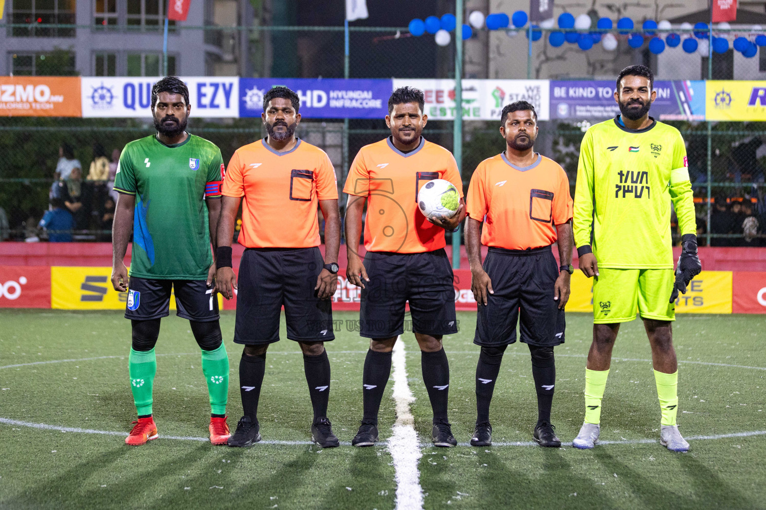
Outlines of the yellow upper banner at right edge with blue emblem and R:
[{"label": "yellow upper banner at right edge with blue emblem and R", "polygon": [[706,120],[766,120],[766,81],[710,80],[705,96]]}]

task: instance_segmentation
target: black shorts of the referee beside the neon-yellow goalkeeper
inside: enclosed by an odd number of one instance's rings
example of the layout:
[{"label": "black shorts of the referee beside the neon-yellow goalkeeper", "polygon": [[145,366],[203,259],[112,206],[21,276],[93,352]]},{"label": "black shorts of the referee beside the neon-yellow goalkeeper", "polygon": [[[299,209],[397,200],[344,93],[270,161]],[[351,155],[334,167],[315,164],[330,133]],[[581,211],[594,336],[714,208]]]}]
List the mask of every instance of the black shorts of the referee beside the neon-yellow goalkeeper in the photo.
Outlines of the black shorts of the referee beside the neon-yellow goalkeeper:
[{"label": "black shorts of the referee beside the neon-yellow goalkeeper", "polygon": [[492,280],[494,294],[478,304],[476,335],[480,346],[506,346],[516,342],[516,323],[521,310],[521,341],[533,346],[564,343],[564,310],[554,300],[558,266],[550,246],[530,250],[489,247],[484,271]]}]

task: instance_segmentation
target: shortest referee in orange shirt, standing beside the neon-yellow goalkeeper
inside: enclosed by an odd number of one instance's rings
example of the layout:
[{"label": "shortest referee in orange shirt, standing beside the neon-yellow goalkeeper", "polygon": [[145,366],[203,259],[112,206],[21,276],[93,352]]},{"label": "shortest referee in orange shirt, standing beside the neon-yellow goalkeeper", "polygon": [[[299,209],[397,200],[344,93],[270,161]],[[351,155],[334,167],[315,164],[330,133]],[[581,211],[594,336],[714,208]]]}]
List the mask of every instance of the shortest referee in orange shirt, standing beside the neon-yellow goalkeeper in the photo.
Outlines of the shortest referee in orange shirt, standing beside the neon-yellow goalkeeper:
[{"label": "shortest referee in orange shirt, standing beside the neon-yellow goalkeeper", "polygon": [[[538,133],[534,106],[513,102],[502,109],[500,119],[506,151],[476,167],[466,196],[466,249],[471,290],[479,308],[473,343],[481,346],[471,444],[492,444],[489,401],[502,353],[516,342],[520,311],[521,341],[532,354],[537,391],[538,421],[532,437],[543,447],[560,447],[551,424],[551,404],[556,379],[553,348],[564,342],[564,307],[574,271],[569,180],[555,161],[534,151]],[[551,251],[557,240],[558,269]],[[481,245],[489,246],[483,265]]]}]

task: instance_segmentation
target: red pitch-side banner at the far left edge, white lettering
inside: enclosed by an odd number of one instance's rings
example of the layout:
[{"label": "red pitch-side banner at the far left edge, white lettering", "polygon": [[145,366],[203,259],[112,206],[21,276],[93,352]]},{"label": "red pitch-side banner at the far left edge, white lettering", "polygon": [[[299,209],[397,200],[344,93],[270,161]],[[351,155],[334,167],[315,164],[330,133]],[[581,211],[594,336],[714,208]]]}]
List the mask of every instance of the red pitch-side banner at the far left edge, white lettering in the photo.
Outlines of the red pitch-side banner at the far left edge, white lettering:
[{"label": "red pitch-side banner at the far left edge, white lettering", "polygon": [[50,268],[0,265],[0,308],[50,307]]}]

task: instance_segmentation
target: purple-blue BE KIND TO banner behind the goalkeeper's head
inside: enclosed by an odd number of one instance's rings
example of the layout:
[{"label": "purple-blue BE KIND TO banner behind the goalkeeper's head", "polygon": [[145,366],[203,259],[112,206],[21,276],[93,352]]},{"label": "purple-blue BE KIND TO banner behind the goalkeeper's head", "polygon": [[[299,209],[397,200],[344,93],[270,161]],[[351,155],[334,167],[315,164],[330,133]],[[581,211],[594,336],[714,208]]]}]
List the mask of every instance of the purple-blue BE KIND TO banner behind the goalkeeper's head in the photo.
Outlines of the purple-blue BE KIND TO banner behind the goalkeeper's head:
[{"label": "purple-blue BE KIND TO banner behind the goalkeeper's head", "polygon": [[[649,115],[657,120],[705,120],[705,81],[656,81]],[[551,81],[552,119],[611,119],[620,113],[612,81]]]}]

